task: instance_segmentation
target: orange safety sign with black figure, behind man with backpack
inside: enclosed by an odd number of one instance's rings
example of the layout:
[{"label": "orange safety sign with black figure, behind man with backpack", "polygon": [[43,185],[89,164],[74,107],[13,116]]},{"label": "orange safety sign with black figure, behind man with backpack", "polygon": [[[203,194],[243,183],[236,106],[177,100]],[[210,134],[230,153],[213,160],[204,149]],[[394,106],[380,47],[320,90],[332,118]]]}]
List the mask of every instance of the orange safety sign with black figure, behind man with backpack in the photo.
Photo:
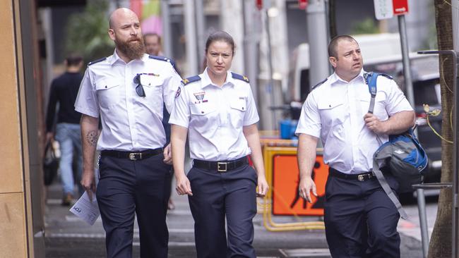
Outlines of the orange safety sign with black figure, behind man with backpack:
[{"label": "orange safety sign with black figure, behind man with backpack", "polygon": [[273,214],[323,216],[325,184],[328,166],[323,164],[323,156],[316,156],[312,178],[316,183],[318,197],[312,195],[312,203],[299,197],[299,169],[297,155],[275,154],[273,156]]}]

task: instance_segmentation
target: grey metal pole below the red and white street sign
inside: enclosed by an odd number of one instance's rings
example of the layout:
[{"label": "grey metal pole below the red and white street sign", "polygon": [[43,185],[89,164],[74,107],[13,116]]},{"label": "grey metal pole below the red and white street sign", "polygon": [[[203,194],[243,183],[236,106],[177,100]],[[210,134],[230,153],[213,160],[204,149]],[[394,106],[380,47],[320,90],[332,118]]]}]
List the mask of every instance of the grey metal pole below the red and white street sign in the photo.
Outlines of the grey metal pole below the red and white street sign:
[{"label": "grey metal pole below the red and white street sign", "polygon": [[398,16],[398,31],[400,32],[400,44],[402,45],[403,76],[405,77],[405,89],[407,99],[411,106],[415,106],[415,94],[411,77],[410,56],[408,56],[408,39],[405,15]]}]

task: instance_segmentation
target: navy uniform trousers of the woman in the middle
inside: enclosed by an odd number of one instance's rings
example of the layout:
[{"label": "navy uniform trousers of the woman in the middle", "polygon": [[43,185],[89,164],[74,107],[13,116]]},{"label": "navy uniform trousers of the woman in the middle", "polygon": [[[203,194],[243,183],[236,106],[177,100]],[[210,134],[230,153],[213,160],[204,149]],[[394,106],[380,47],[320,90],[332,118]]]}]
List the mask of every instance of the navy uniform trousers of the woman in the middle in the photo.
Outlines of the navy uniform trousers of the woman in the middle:
[{"label": "navy uniform trousers of the woman in the middle", "polygon": [[198,258],[255,258],[252,219],[256,215],[257,175],[254,168],[244,165],[218,172],[193,167],[187,176],[193,192],[189,204]]}]

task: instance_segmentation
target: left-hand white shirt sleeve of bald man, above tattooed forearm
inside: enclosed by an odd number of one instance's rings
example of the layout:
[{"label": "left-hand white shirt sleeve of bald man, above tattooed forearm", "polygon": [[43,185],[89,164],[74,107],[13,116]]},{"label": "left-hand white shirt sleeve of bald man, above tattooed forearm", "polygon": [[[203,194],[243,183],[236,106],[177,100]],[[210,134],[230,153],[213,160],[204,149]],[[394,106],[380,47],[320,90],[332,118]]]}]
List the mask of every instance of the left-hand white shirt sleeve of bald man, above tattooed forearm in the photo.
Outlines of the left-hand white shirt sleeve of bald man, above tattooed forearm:
[{"label": "left-hand white shirt sleeve of bald man, above tattooed forearm", "polygon": [[78,90],[75,101],[75,111],[95,118],[99,117],[99,104],[89,68],[86,69],[83,80],[81,80],[80,90]]}]

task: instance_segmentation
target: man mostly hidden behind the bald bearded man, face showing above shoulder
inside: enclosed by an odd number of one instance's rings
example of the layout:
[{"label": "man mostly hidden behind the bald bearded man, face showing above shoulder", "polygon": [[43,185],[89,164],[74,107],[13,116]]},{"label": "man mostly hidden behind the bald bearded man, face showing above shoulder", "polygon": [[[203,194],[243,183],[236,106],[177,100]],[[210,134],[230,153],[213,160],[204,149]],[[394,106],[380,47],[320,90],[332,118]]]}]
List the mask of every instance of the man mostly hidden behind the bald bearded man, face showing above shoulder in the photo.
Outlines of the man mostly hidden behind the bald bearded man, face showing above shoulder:
[{"label": "man mostly hidden behind the bald bearded man, face showing above shoulder", "polygon": [[[161,37],[156,33],[146,33],[143,35],[143,43],[145,44],[145,51],[147,54],[152,56],[162,56],[161,53]],[[174,64],[173,64],[174,65]],[[162,113],[162,125],[166,132],[167,144],[170,142],[170,125],[169,121],[170,114],[167,112],[167,109],[163,109]],[[172,180],[171,180],[171,189],[172,189]],[[171,191],[172,192],[172,191]],[[174,202],[172,198],[169,197],[169,202],[167,202],[167,209],[175,209]]]}]

